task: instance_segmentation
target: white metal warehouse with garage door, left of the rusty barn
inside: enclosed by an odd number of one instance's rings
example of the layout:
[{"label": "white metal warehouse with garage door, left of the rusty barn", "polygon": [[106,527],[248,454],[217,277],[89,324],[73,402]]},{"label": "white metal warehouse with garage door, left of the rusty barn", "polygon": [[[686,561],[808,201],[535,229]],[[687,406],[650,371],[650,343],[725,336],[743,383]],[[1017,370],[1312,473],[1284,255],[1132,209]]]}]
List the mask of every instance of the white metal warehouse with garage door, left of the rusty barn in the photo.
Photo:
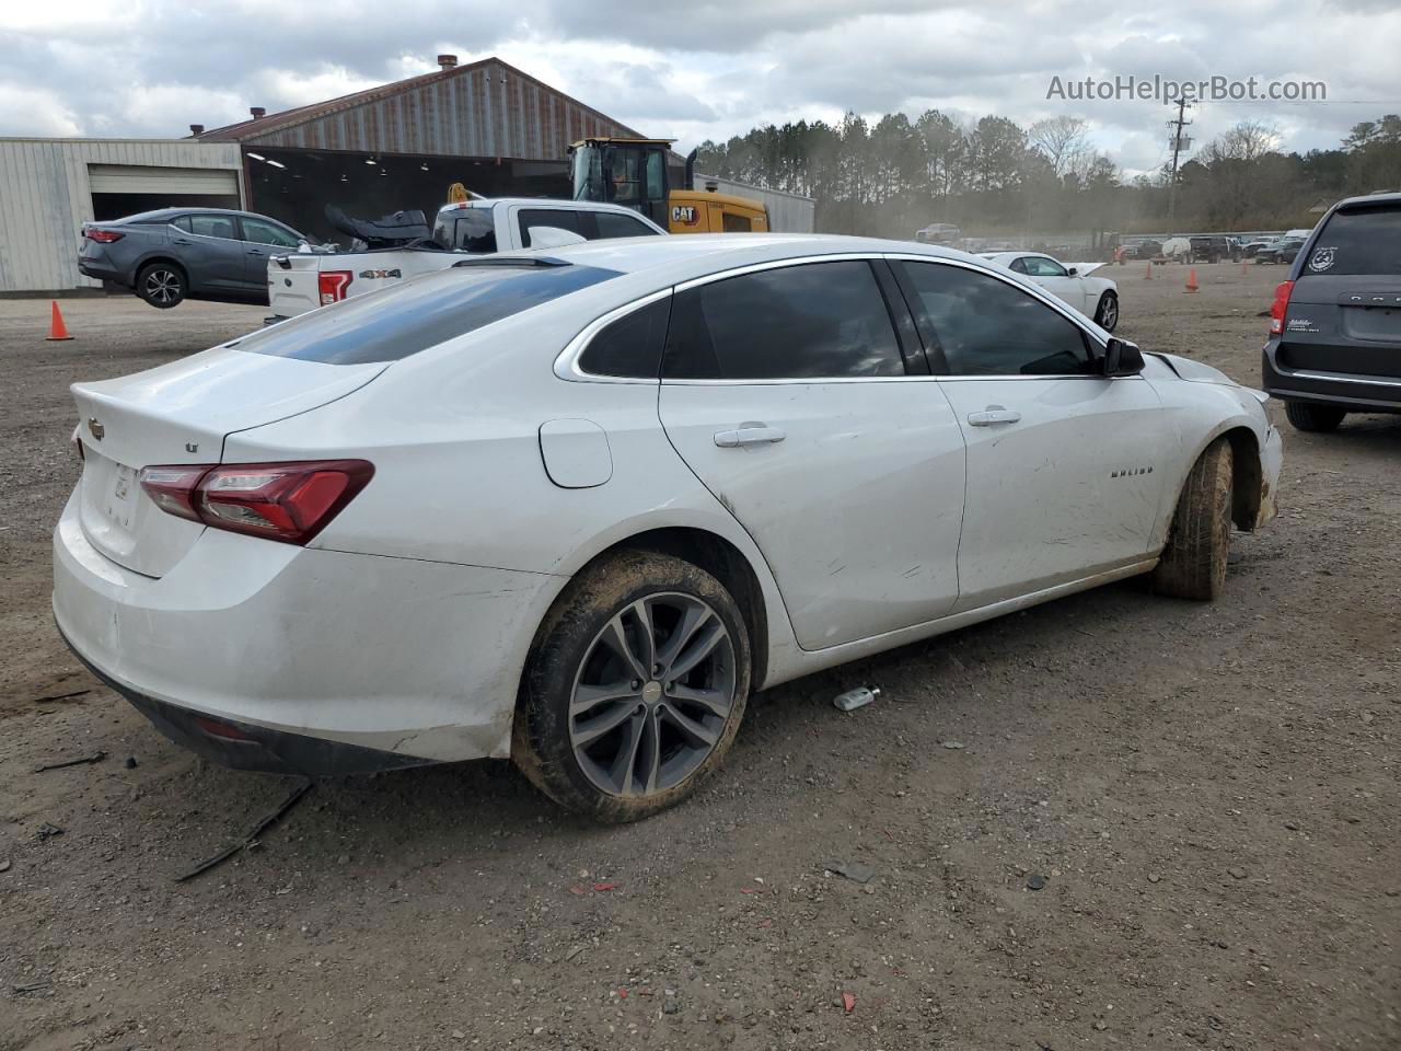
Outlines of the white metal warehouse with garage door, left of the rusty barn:
[{"label": "white metal warehouse with garage door, left of the rusty barn", "polygon": [[0,294],[99,289],[78,273],[84,223],[244,199],[237,143],[0,139]]}]

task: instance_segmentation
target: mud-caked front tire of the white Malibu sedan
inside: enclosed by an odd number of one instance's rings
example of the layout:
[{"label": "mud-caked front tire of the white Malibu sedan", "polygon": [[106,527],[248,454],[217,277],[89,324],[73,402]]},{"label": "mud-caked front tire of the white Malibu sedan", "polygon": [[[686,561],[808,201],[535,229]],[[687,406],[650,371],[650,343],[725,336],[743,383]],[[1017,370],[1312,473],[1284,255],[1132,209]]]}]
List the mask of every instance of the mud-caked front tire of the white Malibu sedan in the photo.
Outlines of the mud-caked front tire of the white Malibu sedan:
[{"label": "mud-caked front tire of the white Malibu sedan", "polygon": [[1174,598],[1210,601],[1226,586],[1230,552],[1231,448],[1216,439],[1192,465],[1177,499],[1153,590]]}]

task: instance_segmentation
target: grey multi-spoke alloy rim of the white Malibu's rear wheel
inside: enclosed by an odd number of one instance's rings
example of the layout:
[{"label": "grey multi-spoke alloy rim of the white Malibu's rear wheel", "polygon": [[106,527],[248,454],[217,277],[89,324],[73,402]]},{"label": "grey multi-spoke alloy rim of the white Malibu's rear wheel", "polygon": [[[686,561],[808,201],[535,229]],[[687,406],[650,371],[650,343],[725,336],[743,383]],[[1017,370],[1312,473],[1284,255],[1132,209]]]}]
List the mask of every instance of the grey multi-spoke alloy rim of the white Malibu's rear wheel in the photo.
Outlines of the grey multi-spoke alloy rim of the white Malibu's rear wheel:
[{"label": "grey multi-spoke alloy rim of the white Malibu's rear wheel", "polygon": [[736,684],[734,640],[708,603],[679,591],[636,600],[574,674],[569,743],[580,769],[612,796],[674,788],[715,750]]}]

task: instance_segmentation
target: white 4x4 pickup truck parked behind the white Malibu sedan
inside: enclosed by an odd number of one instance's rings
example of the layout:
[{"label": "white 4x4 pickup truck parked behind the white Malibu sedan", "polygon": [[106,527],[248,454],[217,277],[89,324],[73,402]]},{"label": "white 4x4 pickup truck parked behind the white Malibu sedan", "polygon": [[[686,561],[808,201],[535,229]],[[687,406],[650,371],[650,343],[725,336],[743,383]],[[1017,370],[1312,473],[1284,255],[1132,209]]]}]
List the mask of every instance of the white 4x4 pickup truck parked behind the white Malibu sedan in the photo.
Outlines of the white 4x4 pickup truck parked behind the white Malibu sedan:
[{"label": "white 4x4 pickup truck parked behind the white Malibu sedan", "polygon": [[447,269],[464,254],[665,233],[632,209],[588,200],[485,198],[444,205],[439,209],[430,242],[272,256],[268,261],[268,304],[272,307],[268,324]]}]

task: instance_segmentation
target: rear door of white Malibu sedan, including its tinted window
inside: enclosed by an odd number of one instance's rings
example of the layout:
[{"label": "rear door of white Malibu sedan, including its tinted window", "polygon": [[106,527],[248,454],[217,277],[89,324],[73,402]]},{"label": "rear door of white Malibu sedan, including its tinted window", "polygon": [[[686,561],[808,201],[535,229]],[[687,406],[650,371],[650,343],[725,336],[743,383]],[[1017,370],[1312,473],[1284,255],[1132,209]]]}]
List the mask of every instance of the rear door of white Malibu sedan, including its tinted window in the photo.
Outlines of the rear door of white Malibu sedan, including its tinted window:
[{"label": "rear door of white Malibu sedan, including its tinted window", "polygon": [[957,598],[962,436],[899,300],[883,263],[828,258],[672,301],[661,423],[764,552],[806,650]]}]

